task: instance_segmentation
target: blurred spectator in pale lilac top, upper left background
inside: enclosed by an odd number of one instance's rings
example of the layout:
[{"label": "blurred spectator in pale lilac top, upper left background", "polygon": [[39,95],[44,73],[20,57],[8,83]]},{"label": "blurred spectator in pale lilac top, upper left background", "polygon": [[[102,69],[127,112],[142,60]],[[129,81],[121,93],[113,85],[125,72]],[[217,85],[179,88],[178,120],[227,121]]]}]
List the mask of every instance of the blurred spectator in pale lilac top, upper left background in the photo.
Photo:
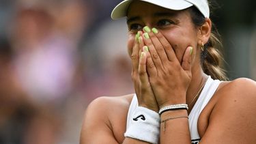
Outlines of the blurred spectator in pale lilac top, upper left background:
[{"label": "blurred spectator in pale lilac top, upper left background", "polygon": [[[51,11],[45,5],[21,7],[13,21],[16,74],[23,89],[37,102],[59,102],[73,89],[83,8],[70,3],[64,8]],[[66,23],[69,20],[72,23]]]}]

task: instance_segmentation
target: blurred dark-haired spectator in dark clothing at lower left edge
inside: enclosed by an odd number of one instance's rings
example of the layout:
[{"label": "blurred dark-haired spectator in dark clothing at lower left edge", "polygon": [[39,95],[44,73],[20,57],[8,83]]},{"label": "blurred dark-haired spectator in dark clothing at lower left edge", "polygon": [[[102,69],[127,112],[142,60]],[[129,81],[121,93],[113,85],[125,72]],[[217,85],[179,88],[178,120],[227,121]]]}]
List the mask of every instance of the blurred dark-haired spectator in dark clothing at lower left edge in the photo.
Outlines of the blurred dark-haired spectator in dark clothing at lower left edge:
[{"label": "blurred dark-haired spectator in dark clothing at lower left edge", "polygon": [[54,144],[60,123],[53,111],[45,111],[33,104],[20,87],[12,57],[10,44],[0,38],[0,143],[29,144],[47,140]]}]

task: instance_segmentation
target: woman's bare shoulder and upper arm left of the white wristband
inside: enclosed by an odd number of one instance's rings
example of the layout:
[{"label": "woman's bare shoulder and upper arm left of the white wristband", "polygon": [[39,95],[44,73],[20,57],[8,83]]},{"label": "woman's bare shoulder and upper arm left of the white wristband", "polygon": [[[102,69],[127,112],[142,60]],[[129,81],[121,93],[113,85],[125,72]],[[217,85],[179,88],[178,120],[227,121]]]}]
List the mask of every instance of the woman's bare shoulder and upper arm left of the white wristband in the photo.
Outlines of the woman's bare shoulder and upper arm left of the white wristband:
[{"label": "woman's bare shoulder and upper arm left of the white wristband", "polygon": [[[102,96],[93,100],[85,112],[81,143],[121,143],[126,117],[134,94]],[[98,137],[101,139],[98,139]]]}]

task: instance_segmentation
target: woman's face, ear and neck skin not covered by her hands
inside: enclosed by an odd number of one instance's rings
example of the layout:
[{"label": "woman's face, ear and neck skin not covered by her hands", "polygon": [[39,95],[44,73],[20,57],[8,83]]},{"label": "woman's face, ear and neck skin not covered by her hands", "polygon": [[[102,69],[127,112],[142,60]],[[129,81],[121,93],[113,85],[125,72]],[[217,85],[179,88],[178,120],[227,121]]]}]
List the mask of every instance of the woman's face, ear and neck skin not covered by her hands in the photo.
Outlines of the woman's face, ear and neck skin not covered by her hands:
[{"label": "woman's face, ear and neck skin not covered by her hands", "polygon": [[[155,27],[164,35],[180,63],[182,63],[186,48],[193,46],[193,56],[191,57],[193,77],[188,88],[188,96],[186,96],[186,101],[191,102],[199,89],[198,85],[202,85],[203,78],[205,78],[200,64],[200,47],[202,42],[206,43],[210,37],[211,22],[209,19],[207,22],[203,27],[195,27],[191,22],[188,10],[167,10],[150,3],[136,1],[130,5],[128,10],[128,53],[130,56],[132,55],[134,37],[137,31],[142,31],[145,26]],[[134,55],[136,57],[139,53]],[[132,55],[132,59],[134,55]]]}]

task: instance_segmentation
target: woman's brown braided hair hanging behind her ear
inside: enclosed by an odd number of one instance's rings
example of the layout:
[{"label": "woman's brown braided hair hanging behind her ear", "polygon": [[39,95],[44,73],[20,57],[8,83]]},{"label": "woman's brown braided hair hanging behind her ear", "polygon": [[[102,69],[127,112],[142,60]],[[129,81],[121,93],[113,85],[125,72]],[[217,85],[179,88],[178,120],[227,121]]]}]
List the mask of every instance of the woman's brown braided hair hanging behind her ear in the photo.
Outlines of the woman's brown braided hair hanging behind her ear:
[{"label": "woman's brown braided hair hanging behind her ear", "polygon": [[[212,3],[209,2],[210,10],[212,10]],[[205,17],[195,6],[189,8],[192,22],[196,27],[200,27],[205,23]],[[223,44],[221,42],[221,35],[218,33],[215,25],[212,23],[212,31],[210,39],[204,45],[204,50],[201,53],[201,65],[203,72],[212,76],[214,79],[227,81],[228,78],[223,69],[223,55],[221,55],[221,48]]]}]

